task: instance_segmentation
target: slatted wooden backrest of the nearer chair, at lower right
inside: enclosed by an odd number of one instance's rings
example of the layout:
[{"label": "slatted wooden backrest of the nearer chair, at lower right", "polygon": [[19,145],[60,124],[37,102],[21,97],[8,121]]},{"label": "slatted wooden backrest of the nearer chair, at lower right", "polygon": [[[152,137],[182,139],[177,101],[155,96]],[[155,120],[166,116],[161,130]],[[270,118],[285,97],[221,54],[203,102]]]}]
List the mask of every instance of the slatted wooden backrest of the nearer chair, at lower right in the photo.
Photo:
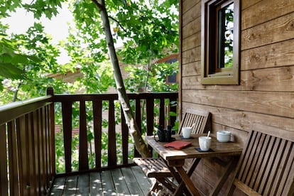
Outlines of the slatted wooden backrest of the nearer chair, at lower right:
[{"label": "slatted wooden backrest of the nearer chair, at lower right", "polygon": [[294,131],[254,124],[241,154],[234,187],[247,195],[294,195]]}]

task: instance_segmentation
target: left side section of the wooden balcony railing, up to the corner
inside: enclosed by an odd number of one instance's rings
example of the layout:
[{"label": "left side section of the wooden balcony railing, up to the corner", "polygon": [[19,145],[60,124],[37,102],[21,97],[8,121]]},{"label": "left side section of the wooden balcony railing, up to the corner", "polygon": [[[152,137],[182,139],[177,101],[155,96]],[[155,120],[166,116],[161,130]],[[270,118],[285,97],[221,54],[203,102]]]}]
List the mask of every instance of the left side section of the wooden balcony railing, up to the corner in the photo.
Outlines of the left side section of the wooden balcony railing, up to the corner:
[{"label": "left side section of the wooden balcony railing, up to the corner", "polygon": [[43,195],[55,173],[51,97],[0,107],[0,195]]}]

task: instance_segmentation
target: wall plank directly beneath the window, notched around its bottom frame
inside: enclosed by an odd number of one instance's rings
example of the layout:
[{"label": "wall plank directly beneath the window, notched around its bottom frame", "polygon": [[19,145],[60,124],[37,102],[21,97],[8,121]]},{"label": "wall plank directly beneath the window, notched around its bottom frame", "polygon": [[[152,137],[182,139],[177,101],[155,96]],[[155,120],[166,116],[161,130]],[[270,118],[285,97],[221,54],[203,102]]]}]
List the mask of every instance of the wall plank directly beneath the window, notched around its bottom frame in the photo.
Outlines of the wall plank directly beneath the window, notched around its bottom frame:
[{"label": "wall plank directly beneath the window, notched around its bottom frame", "polygon": [[[234,90],[234,91],[267,91],[293,92],[294,66],[273,67],[268,69],[248,70],[241,72],[241,85],[201,85],[200,75],[195,75],[197,67],[190,63],[183,70],[182,89]],[[275,84],[275,85],[273,85]]]}]

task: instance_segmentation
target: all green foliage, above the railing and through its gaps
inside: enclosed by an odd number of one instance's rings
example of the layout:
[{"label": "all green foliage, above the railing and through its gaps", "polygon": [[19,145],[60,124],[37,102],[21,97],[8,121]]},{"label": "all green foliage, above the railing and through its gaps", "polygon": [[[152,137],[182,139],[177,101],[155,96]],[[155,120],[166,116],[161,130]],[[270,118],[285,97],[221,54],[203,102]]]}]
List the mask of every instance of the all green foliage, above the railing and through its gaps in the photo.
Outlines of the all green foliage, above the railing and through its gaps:
[{"label": "all green foliage, above the railing and through its gaps", "polygon": [[[0,2],[0,18],[9,16],[18,8],[26,9],[36,19],[41,16],[52,18],[67,4],[73,16],[74,26],[69,36],[58,45],[52,43],[50,35],[44,33],[44,27],[36,20],[26,33],[6,36],[6,29],[0,21],[0,104],[45,94],[47,87],[53,87],[56,94],[76,92],[102,93],[114,87],[113,72],[109,62],[107,43],[102,28],[99,9],[90,0],[35,0],[25,4],[20,0]],[[109,11],[114,43],[124,45],[117,54],[121,62],[128,63],[130,73],[126,88],[131,92],[152,90],[157,92],[175,91],[177,84],[167,85],[165,78],[178,72],[178,64],[151,65],[151,62],[170,53],[178,52],[178,1],[106,1]],[[58,31],[58,29],[57,29]],[[60,48],[67,50],[70,62],[59,65]],[[136,66],[135,66],[136,65]],[[140,65],[140,66],[138,66]],[[79,70],[83,77],[75,82],[65,82],[53,77]],[[1,84],[4,85],[1,85]],[[144,103],[142,103],[144,105]],[[79,119],[79,104],[74,103],[72,118]],[[103,109],[108,109],[103,102]],[[133,103],[134,107],[134,103]],[[120,105],[115,104],[116,124],[119,124]],[[62,124],[60,104],[55,104],[55,123]],[[87,141],[89,143],[89,167],[95,163],[92,143],[92,105],[87,103]],[[156,111],[158,112],[158,111]],[[143,125],[146,127],[146,121]],[[73,121],[72,127],[78,127],[79,121]],[[102,165],[107,165],[108,135],[106,119],[102,121]],[[62,132],[56,134],[56,168],[65,170]],[[78,136],[72,138],[72,169],[78,168]],[[121,149],[121,135],[116,133],[116,146]],[[130,138],[131,142],[131,138]],[[130,158],[133,156],[130,153]],[[118,161],[122,159],[119,152]]]}]

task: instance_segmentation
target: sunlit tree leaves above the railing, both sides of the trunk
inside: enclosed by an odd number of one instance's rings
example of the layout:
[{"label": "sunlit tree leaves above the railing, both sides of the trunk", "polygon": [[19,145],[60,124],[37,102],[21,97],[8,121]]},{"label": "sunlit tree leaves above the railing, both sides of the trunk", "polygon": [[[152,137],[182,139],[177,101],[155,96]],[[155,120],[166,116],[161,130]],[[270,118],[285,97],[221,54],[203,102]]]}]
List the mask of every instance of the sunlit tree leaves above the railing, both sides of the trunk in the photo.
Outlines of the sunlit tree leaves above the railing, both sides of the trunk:
[{"label": "sunlit tree leaves above the railing, both sides of the trunk", "polygon": [[[3,90],[7,100],[43,95],[48,86],[52,86],[57,93],[75,92],[81,88],[89,93],[104,92],[109,86],[114,86],[109,63],[105,63],[109,60],[107,44],[94,1],[0,2],[0,90]],[[117,51],[121,62],[150,65],[155,59],[177,52],[178,1],[106,0],[105,3],[114,42],[124,45]],[[38,20],[41,16],[57,16],[58,9],[65,5],[75,16],[75,23],[70,27],[67,40],[54,45]],[[9,26],[4,26],[1,18],[8,17],[18,8],[32,12],[36,23],[24,34],[7,36]],[[70,55],[67,65],[58,64],[60,48]],[[73,72],[77,68],[85,77],[77,79],[74,84],[48,77],[49,74],[68,70]],[[142,69],[141,74],[144,72]],[[3,89],[3,83],[6,89]]]}]

